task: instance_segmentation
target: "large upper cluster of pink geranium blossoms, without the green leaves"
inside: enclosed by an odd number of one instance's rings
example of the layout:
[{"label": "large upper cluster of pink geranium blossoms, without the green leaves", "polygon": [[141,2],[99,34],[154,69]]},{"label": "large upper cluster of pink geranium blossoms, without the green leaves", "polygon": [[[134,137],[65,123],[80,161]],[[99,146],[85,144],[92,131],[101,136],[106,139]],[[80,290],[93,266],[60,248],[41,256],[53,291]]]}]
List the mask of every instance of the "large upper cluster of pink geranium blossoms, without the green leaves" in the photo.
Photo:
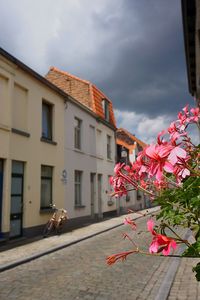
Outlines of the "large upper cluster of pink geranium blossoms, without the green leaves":
[{"label": "large upper cluster of pink geranium blossoms, without the green leaves", "polygon": [[116,164],[115,175],[111,177],[115,195],[122,196],[129,189],[140,189],[152,199],[157,191],[171,184],[181,185],[183,179],[191,174],[188,164],[193,159],[191,153],[195,147],[185,129],[189,123],[198,123],[199,115],[199,108],[189,110],[186,105],[178,114],[178,120],[158,134],[157,143],[139,152],[135,162]]}]

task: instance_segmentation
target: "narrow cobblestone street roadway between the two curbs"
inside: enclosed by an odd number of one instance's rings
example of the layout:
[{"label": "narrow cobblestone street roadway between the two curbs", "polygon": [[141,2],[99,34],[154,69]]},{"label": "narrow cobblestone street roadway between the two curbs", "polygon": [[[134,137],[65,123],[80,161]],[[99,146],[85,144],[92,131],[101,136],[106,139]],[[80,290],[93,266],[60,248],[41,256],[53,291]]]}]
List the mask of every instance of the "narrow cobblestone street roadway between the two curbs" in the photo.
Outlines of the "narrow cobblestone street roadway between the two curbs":
[{"label": "narrow cobblestone street roadway between the two curbs", "polygon": [[[137,224],[138,232],[146,231],[146,218]],[[122,238],[124,232],[130,233],[128,226],[2,272],[0,299],[155,299],[170,258],[131,255],[108,266],[106,256],[131,247]],[[141,232],[134,240],[147,248],[150,238]]]}]

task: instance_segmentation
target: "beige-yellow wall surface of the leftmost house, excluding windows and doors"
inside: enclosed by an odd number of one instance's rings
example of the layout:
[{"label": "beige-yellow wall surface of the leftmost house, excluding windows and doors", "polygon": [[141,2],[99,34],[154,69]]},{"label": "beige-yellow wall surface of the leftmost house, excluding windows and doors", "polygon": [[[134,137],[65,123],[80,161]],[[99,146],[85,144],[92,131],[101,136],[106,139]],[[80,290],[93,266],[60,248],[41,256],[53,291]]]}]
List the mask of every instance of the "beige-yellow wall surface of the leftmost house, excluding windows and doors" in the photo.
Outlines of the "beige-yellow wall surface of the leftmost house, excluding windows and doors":
[{"label": "beige-yellow wall surface of the leftmost house, excluding windows and doors", "polygon": [[[42,142],[42,100],[54,105],[53,140]],[[12,128],[30,136],[12,132]],[[2,231],[10,228],[10,185],[12,160],[24,162],[23,228],[43,224],[50,214],[40,212],[41,165],[53,171],[53,202],[63,206],[64,185],[64,101],[63,98],[14,64],[0,56],[0,158],[4,159]]]}]

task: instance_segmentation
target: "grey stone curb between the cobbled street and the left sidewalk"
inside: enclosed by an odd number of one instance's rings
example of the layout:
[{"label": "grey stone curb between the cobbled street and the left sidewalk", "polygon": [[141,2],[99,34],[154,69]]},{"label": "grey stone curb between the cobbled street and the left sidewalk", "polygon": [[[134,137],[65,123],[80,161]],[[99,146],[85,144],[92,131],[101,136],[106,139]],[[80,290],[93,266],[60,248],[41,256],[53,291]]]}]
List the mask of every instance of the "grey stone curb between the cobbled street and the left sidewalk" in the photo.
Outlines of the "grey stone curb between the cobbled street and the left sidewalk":
[{"label": "grey stone curb between the cobbled street and the left sidewalk", "polygon": [[[159,210],[159,208],[156,209],[156,207],[154,207],[153,209],[154,209],[154,210],[153,210],[152,212],[151,212],[151,211],[148,211],[148,209],[146,209],[146,210],[145,210],[145,211],[146,211],[146,215],[149,215],[149,214],[154,213],[154,212],[156,212],[156,211]],[[155,209],[156,209],[156,210],[155,210]],[[149,210],[150,210],[150,209],[149,209]],[[136,212],[136,214],[137,214],[137,212]],[[137,219],[140,219],[140,218],[142,218],[142,216],[138,216],[138,217],[135,217],[135,218],[133,218],[133,219],[134,219],[134,220],[137,220]],[[88,236],[85,236],[85,237],[83,237],[83,238],[79,238],[79,239],[77,239],[77,240],[75,240],[75,241],[67,242],[67,243],[65,243],[65,244],[62,244],[62,245],[59,245],[59,246],[50,248],[50,249],[48,249],[48,250],[44,250],[44,251],[42,251],[42,252],[39,252],[39,253],[37,253],[37,254],[35,254],[35,255],[31,255],[31,256],[29,256],[29,257],[27,257],[27,258],[24,258],[24,259],[18,259],[17,261],[14,261],[14,262],[12,262],[12,263],[4,264],[4,265],[0,266],[0,273],[2,273],[2,272],[4,272],[4,271],[7,271],[7,270],[10,270],[10,269],[13,269],[13,268],[15,268],[15,267],[17,267],[17,266],[19,266],[19,265],[22,265],[22,264],[31,262],[32,260],[35,260],[35,259],[40,258],[40,257],[42,257],[42,256],[51,254],[51,253],[56,252],[56,251],[59,251],[59,250],[62,250],[62,249],[64,249],[64,248],[67,248],[67,247],[69,247],[69,246],[72,246],[72,245],[74,245],[74,244],[77,244],[77,243],[79,243],[79,242],[81,242],[81,241],[87,240],[87,239],[92,238],[92,237],[94,237],[94,236],[97,236],[97,235],[99,235],[99,234],[105,233],[105,232],[107,232],[107,231],[110,231],[110,230],[112,230],[112,229],[115,229],[115,228],[117,228],[117,227],[120,227],[120,226],[122,226],[123,224],[124,224],[124,223],[121,222],[121,223],[119,223],[119,224],[117,224],[117,225],[114,225],[114,226],[109,227],[109,228],[107,228],[107,229],[101,230],[101,231],[99,231],[99,232],[95,232],[95,233],[90,234],[90,235],[88,235]]]}]

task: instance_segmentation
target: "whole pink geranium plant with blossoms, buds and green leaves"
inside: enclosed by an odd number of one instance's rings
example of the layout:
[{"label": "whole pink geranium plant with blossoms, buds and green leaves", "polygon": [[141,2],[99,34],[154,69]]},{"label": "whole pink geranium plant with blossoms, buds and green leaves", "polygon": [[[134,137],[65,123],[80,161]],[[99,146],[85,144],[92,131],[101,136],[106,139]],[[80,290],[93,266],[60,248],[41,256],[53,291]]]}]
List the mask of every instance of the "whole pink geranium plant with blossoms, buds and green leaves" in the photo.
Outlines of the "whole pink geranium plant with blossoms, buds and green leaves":
[{"label": "whole pink geranium plant with blossoms, buds and green leaves", "polygon": [[[155,227],[154,221],[148,220],[147,229],[151,233],[152,241],[147,251],[140,248],[137,240],[131,238],[128,233],[124,233],[123,238],[131,242],[132,248],[130,251],[108,256],[107,264],[112,265],[118,260],[123,261],[132,253],[148,255],[149,253],[154,255],[162,253],[167,256],[171,250],[177,248],[177,244],[183,243],[189,249],[192,248],[192,253],[196,249],[197,256],[199,256],[198,243],[191,244],[183,239],[179,233],[176,233],[174,226],[185,227],[187,225],[193,231],[194,237],[198,236],[199,231],[196,228],[199,227],[197,210],[199,208],[200,148],[192,143],[186,129],[191,123],[196,123],[200,129],[199,120],[200,109],[189,109],[189,105],[186,105],[178,114],[178,119],[172,122],[167,130],[158,134],[156,143],[146,146],[137,154],[135,162],[128,165],[121,163],[116,165],[115,175],[111,178],[111,184],[115,189],[114,194],[121,196],[135,189],[148,194],[148,200],[157,198],[157,205],[161,208],[158,218],[162,218],[162,222]],[[130,217],[124,219],[124,224],[136,230],[136,224]],[[167,236],[165,229],[174,237]],[[135,234],[133,237],[135,238]],[[186,250],[183,255],[188,254]],[[195,275],[197,280],[200,278],[198,265],[196,269],[193,269],[197,273]]]}]

